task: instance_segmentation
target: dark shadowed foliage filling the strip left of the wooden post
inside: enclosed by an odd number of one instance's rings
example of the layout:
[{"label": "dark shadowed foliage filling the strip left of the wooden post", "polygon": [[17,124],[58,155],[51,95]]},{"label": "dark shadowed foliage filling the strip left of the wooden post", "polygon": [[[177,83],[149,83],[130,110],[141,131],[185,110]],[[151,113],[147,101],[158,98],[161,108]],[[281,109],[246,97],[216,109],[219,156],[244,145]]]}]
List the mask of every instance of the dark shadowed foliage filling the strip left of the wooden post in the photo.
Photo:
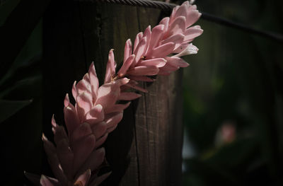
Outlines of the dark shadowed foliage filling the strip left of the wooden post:
[{"label": "dark shadowed foliage filling the strip left of the wooden post", "polygon": [[[1,25],[18,3],[1,1]],[[39,173],[41,169],[42,152],[38,151],[42,149],[41,22],[26,40],[16,60],[0,79],[0,139],[4,146],[1,165],[5,168],[1,176],[6,178],[1,185],[23,185],[24,170]]]}]

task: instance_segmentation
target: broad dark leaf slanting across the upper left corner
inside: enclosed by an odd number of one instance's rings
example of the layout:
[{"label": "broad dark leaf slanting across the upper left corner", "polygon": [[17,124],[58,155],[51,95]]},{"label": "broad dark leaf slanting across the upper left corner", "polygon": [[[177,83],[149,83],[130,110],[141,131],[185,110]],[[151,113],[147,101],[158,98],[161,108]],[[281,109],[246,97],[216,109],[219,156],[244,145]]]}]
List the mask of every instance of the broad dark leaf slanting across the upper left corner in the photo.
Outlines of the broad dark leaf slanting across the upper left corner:
[{"label": "broad dark leaf slanting across the upper left corner", "polygon": [[[4,51],[0,55],[0,77],[6,74],[6,71],[8,71],[16,57],[18,57],[19,52],[21,52],[30,33],[33,32],[40,18],[42,18],[49,3],[50,0],[20,1],[13,8],[8,18],[6,18],[5,23],[0,27],[0,50]],[[13,41],[13,45],[11,45],[11,41]]]}]

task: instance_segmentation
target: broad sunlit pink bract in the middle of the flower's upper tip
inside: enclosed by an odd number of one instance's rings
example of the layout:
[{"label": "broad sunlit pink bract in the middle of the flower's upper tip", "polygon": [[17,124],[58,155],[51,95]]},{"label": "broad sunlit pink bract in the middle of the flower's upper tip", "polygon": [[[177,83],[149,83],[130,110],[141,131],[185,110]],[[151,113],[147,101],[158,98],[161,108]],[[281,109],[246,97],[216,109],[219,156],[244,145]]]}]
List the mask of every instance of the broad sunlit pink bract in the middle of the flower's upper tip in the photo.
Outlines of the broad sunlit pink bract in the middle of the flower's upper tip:
[{"label": "broad sunlit pink bract in the middle of the flower's upper tip", "polygon": [[186,19],[184,16],[175,18],[173,23],[169,25],[168,31],[166,33],[166,37],[170,37],[171,35],[175,35],[178,33],[183,34],[185,32],[185,23],[186,23]]}]

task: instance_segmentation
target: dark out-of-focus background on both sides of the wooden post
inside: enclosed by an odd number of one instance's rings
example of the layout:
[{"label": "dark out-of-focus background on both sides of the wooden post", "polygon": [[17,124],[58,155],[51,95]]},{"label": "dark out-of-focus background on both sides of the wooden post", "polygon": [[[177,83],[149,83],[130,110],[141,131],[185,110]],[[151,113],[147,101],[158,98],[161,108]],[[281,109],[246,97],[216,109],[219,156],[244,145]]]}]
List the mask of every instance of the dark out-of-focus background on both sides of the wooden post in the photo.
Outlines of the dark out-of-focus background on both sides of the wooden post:
[{"label": "dark out-of-focus background on both sides of the wooden post", "polygon": [[[19,2],[0,1],[0,29]],[[283,33],[282,1],[196,4],[200,11]],[[0,44],[1,56],[16,55],[0,74],[1,185],[22,185],[23,170],[42,170],[42,21],[37,22],[41,6],[32,8],[39,13],[26,22],[33,32],[26,34],[23,46],[17,40],[25,33],[16,30],[20,20],[14,22],[14,30],[0,34],[2,40],[7,34],[13,38],[6,46]],[[30,26],[33,22],[35,28]],[[183,70],[183,184],[283,185],[282,42],[209,21],[197,24],[204,29],[193,42],[200,51],[185,57],[190,66]],[[0,59],[3,70],[5,58]],[[229,126],[228,139],[223,126]]]}]

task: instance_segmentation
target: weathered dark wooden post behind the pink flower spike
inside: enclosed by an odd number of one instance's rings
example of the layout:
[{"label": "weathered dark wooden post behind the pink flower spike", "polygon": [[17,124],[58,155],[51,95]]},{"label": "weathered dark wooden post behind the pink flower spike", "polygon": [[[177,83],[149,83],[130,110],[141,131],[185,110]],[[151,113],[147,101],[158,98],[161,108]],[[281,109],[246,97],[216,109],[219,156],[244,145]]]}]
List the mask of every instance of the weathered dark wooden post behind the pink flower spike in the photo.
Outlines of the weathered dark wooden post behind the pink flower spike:
[{"label": "weathered dark wooden post behind the pink flower spike", "polygon": [[[147,25],[153,28],[159,16],[151,8],[52,1],[43,19],[43,130],[47,136],[51,136],[52,113],[63,123],[64,95],[71,93],[74,80],[81,79],[94,61],[102,82],[109,50],[115,49],[120,64],[125,41],[134,41]],[[181,79],[182,71],[178,71],[144,84],[149,93],[125,110],[124,119],[105,142],[112,175],[103,185],[180,185]]]}]

